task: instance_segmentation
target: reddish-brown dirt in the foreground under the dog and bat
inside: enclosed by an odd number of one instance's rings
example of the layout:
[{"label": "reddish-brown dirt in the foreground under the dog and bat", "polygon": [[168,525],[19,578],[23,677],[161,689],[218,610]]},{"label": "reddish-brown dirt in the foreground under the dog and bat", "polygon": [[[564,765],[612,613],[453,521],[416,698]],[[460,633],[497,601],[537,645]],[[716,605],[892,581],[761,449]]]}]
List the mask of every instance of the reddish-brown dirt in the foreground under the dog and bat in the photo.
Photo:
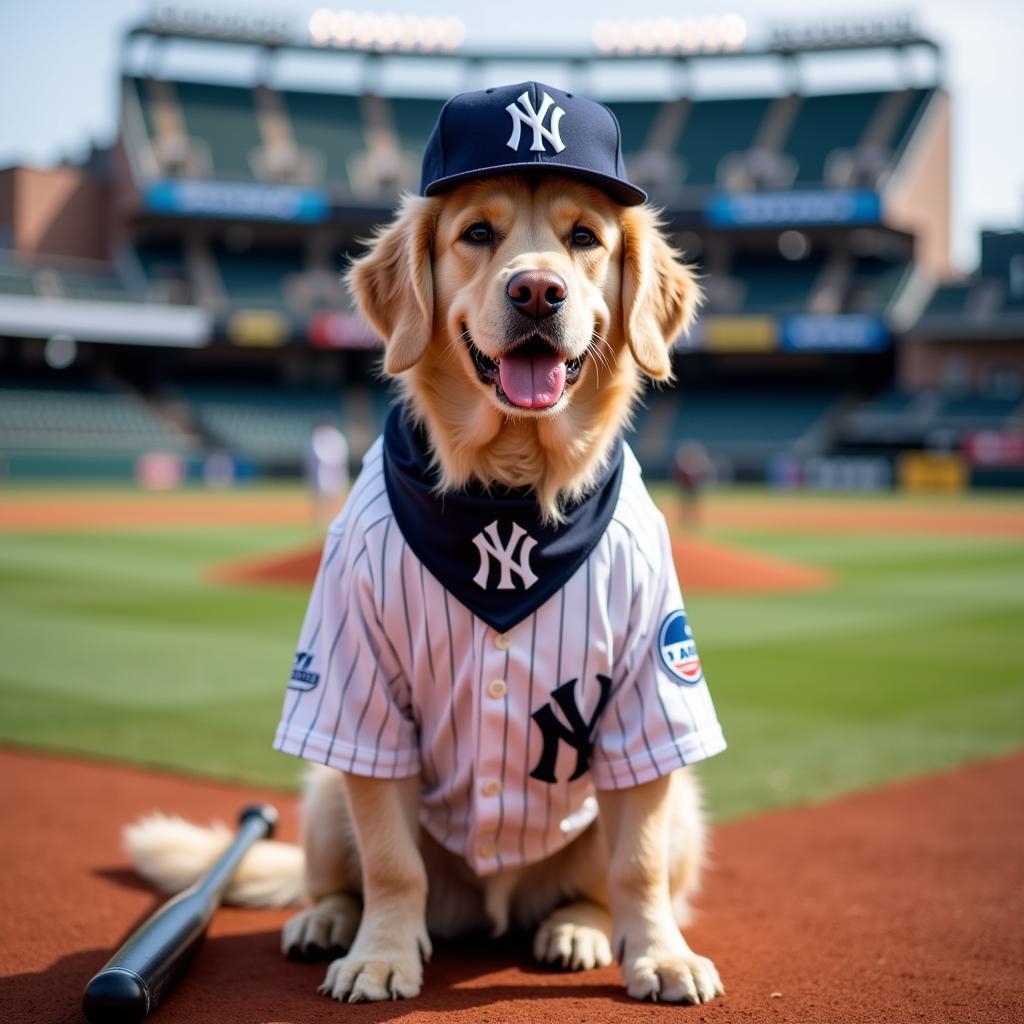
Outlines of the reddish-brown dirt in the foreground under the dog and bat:
[{"label": "reddish-brown dirt in the foreground under the dog and bat", "polygon": [[[230,819],[268,796],[12,751],[0,777],[6,1024],[81,1021],[83,985],[157,904],[119,850],[121,823],[158,807]],[[294,836],[291,799],[275,802]],[[542,971],[514,940],[441,947],[417,1000],[342,1008],[314,994],[322,966],[278,952],[286,912],[226,909],[154,1021],[1020,1021],[1021,806],[1024,755],[723,826],[689,931],[726,980],[709,1007],[632,1002],[615,969]]]}]

